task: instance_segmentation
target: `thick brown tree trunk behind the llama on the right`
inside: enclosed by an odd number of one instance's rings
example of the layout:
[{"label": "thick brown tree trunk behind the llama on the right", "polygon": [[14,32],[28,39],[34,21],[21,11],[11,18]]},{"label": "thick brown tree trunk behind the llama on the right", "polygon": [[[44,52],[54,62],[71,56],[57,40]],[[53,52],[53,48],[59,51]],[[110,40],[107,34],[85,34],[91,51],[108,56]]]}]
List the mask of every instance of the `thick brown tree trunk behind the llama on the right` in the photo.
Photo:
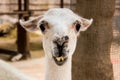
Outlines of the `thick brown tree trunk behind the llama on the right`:
[{"label": "thick brown tree trunk behind the llama on the right", "polygon": [[115,0],[77,0],[76,12],[93,18],[73,56],[73,80],[114,80],[110,60]]}]

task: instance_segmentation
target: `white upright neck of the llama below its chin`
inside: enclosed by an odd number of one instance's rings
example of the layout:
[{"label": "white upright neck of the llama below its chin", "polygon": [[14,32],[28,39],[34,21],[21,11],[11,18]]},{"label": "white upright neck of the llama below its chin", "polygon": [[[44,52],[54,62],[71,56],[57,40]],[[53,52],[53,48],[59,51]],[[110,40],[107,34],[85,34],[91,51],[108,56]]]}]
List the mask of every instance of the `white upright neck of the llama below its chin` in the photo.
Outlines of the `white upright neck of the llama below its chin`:
[{"label": "white upright neck of the llama below its chin", "polygon": [[45,80],[71,80],[71,59],[58,66],[49,58],[46,58],[46,76]]}]

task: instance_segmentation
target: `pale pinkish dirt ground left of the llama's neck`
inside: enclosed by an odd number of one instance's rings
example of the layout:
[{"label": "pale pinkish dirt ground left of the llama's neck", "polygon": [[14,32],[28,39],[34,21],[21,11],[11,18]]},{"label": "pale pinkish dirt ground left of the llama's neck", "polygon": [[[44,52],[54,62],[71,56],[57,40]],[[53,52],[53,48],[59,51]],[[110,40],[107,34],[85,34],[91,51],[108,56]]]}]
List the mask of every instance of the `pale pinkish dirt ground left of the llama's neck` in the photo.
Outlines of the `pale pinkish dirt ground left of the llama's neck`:
[{"label": "pale pinkish dirt ground left of the llama's neck", "polygon": [[45,59],[29,59],[20,62],[10,63],[15,66],[17,69],[22,71],[28,76],[35,78],[36,80],[44,80],[45,74]]}]

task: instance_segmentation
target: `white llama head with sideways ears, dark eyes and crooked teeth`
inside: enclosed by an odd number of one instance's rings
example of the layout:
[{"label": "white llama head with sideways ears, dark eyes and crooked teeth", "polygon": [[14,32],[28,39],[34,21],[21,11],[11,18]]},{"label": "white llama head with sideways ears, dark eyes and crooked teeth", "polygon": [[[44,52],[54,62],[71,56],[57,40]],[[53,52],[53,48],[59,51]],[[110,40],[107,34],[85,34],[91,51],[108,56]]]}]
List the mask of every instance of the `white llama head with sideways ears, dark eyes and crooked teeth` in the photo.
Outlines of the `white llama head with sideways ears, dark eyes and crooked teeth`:
[{"label": "white llama head with sideways ears, dark eyes and crooked teeth", "polygon": [[47,58],[60,66],[68,58],[72,58],[77,36],[80,31],[85,31],[92,21],[76,15],[69,9],[54,8],[35,19],[20,20],[20,24],[28,31],[42,32],[43,48]]}]

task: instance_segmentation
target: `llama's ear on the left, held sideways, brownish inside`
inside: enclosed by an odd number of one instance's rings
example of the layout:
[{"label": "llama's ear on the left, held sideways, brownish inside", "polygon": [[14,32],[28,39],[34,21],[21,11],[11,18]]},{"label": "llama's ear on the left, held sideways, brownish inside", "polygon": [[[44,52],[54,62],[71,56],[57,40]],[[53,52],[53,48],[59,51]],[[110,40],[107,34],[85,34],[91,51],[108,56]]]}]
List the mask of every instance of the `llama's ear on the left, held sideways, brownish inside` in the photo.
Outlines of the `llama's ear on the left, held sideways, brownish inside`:
[{"label": "llama's ear on the left, held sideways, brownish inside", "polygon": [[37,24],[41,18],[42,16],[39,16],[28,21],[24,21],[23,19],[21,19],[19,22],[24,29],[26,29],[27,31],[33,32],[33,31],[39,30],[39,28],[37,27]]}]

